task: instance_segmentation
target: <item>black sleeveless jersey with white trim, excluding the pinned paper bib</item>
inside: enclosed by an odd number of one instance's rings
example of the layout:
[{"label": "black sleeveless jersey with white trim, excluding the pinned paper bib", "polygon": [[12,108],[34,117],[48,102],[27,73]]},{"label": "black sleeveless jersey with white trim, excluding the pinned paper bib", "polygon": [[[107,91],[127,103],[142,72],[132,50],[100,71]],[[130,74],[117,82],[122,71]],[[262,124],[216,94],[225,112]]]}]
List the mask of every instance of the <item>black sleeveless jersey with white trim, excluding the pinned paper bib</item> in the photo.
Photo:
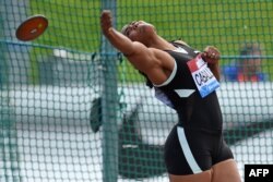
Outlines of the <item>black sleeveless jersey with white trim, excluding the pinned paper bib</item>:
[{"label": "black sleeveless jersey with white trim, excluding the pinned paper bib", "polygon": [[164,84],[154,85],[156,97],[177,111],[179,125],[221,132],[223,119],[217,95],[213,90],[202,97],[188,66],[188,62],[194,59],[199,51],[187,45],[173,44],[177,49],[165,51],[174,58],[176,66]]}]

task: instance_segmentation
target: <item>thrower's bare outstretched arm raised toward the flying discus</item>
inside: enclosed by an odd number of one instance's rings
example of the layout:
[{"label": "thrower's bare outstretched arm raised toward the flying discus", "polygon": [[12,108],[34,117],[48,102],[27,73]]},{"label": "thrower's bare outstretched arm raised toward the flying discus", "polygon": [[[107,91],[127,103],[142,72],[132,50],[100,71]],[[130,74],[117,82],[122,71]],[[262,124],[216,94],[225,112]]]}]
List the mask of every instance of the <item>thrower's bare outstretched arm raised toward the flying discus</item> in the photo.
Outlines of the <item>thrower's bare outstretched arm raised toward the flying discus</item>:
[{"label": "thrower's bare outstretched arm raised toward the flying discus", "polygon": [[[173,58],[167,52],[147,48],[139,41],[132,41],[115,29],[112,27],[111,13],[108,10],[102,12],[100,26],[105,37],[128,58],[135,69],[145,73],[155,84],[166,80],[168,71],[174,68]],[[171,63],[168,64],[168,62]]]}]

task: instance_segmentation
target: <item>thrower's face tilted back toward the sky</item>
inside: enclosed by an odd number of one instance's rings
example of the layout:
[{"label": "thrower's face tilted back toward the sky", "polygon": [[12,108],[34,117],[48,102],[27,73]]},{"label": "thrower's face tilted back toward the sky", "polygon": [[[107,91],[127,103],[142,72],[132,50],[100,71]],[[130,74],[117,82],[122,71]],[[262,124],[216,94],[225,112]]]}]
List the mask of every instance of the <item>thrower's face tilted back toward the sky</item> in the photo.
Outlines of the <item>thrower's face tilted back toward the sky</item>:
[{"label": "thrower's face tilted back toward the sky", "polygon": [[122,27],[121,33],[132,41],[141,41],[145,44],[147,37],[155,34],[155,28],[152,24],[144,21],[133,21]]}]

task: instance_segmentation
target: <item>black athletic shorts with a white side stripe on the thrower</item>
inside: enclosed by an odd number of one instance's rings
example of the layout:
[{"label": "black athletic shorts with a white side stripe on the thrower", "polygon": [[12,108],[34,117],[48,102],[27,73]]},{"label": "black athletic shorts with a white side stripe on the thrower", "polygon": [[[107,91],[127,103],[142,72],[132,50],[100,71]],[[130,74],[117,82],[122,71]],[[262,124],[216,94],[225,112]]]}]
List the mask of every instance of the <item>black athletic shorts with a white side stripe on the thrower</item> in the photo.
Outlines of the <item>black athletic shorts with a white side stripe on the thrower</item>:
[{"label": "black athletic shorts with a white side stripe on the thrower", "polygon": [[168,173],[199,173],[213,165],[234,158],[222,134],[195,131],[175,125],[165,143],[165,163]]}]

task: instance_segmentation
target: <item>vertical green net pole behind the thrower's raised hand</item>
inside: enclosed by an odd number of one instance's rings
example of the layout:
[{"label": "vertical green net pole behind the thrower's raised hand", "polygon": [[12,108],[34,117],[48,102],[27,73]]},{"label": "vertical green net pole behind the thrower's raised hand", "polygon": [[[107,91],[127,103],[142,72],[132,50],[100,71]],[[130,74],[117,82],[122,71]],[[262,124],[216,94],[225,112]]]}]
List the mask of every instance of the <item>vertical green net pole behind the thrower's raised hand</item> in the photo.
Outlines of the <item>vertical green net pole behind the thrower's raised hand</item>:
[{"label": "vertical green net pole behind the thrower's raised hand", "polygon": [[[116,0],[102,0],[103,10],[116,15]],[[116,19],[114,19],[115,21]],[[115,22],[114,22],[115,26]],[[102,120],[103,120],[103,181],[118,181],[118,81],[117,51],[102,36]]]}]

